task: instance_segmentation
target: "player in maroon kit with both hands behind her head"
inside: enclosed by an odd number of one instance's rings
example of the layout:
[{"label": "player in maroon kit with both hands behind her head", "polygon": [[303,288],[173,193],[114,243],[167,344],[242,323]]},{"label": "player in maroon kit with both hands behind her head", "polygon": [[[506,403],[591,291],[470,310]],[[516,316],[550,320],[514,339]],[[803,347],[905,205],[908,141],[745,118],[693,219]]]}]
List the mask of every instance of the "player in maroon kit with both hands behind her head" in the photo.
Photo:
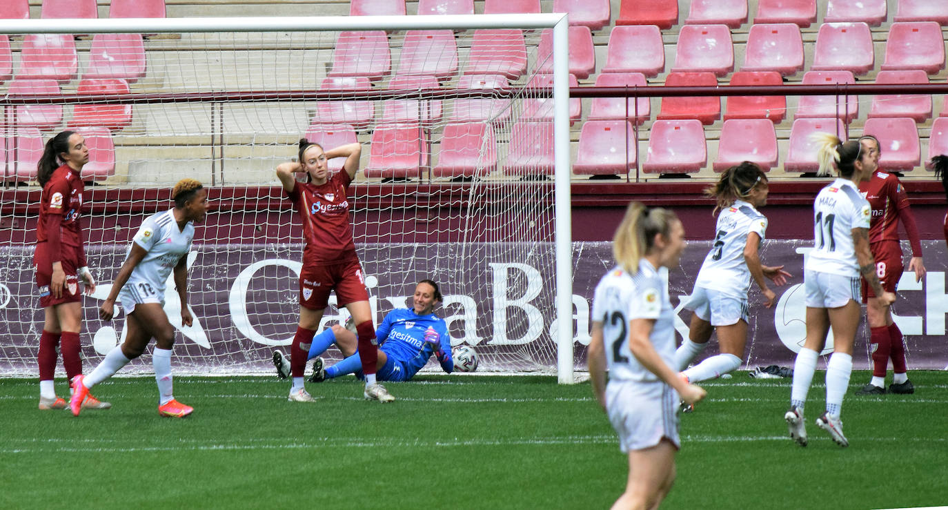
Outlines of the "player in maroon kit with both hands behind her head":
[{"label": "player in maroon kit with both hands behind her head", "polygon": [[[282,352],[273,353],[273,363],[278,369],[286,363],[290,365],[293,386],[288,399],[291,402],[315,401],[303,387],[303,371],[310,344],[333,290],[336,291],[337,306],[345,306],[356,323],[358,353],[366,379],[364,396],[383,403],[394,400],[375,381],[378,346],[372,307],[356,255],[349,217],[347,191],[356,177],[361,154],[362,146],[358,143],[324,152],[319,144],[301,138],[297,161],[277,167],[283,190],[293,201],[302,220],[305,241],[300,272],[300,322],[290,346],[289,361]],[[326,162],[334,157],[345,157],[346,160],[340,172],[330,173]],[[297,180],[300,173],[306,176],[306,182]]]}]

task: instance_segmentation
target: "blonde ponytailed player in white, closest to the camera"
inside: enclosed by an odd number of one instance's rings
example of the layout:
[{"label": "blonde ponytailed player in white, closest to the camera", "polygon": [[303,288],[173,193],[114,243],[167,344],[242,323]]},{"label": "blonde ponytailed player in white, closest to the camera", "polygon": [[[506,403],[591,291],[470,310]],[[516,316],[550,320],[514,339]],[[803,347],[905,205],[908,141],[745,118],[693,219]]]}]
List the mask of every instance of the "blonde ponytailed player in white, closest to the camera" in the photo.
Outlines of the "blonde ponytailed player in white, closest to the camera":
[{"label": "blonde ponytailed player in white, closest to the camera", "polygon": [[626,491],[613,508],[658,507],[675,481],[679,397],[694,404],[705,394],[671,368],[675,312],[662,271],[678,265],[684,245],[673,212],[632,202],[613,238],[618,265],[595,289],[593,392],[629,453]]}]

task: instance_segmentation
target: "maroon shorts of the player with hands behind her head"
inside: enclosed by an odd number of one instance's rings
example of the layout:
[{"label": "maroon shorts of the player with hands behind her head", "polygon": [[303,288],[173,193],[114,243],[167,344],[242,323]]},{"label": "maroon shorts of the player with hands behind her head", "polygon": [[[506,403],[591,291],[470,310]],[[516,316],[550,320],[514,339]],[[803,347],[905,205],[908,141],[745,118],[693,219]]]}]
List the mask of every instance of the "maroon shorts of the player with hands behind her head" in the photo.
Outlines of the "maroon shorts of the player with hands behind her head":
[{"label": "maroon shorts of the player with hands behind her head", "polygon": [[365,277],[358,259],[333,264],[303,261],[300,272],[300,306],[322,310],[329,305],[329,293],[336,291],[339,308],[356,301],[369,301]]}]

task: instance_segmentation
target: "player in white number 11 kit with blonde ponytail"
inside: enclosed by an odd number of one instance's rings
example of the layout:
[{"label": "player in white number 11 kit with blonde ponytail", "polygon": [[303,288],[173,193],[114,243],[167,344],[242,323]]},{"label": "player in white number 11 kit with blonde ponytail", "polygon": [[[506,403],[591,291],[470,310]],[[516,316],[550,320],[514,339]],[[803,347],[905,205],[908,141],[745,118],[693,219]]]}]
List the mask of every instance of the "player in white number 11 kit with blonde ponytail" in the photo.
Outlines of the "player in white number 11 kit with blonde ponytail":
[{"label": "player in white number 11 kit with blonde ponytail", "polygon": [[832,328],[833,354],[827,363],[827,406],[816,426],[830,433],[839,446],[848,446],[840,413],[843,395],[852,373],[852,344],[859,325],[860,274],[872,288],[881,307],[895,301],[876,275],[869,249],[869,219],[872,209],[859,192],[859,183],[876,170],[876,158],[856,140],[843,143],[826,133],[813,136],[817,142],[820,174],[835,166],[839,176],[820,190],[813,202],[813,249],[804,263],[807,293],[807,339],[793,364],[791,407],[784,414],[790,437],[807,446],[803,407],[816,370],[816,358]]}]

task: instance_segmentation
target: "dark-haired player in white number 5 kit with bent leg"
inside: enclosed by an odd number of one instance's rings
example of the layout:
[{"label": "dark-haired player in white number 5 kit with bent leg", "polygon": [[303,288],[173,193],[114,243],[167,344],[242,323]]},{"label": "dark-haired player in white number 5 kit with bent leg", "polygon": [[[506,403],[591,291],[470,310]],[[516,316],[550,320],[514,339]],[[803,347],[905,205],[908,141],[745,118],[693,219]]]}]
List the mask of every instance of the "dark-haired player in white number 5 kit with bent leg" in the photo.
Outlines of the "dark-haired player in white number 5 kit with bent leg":
[{"label": "dark-haired player in white number 5 kit with bent leg", "polygon": [[[767,191],[767,175],[750,161],[727,169],[717,184],[704,191],[718,202],[714,210],[718,224],[714,245],[704,257],[695,288],[684,305],[694,312],[688,338],[675,353],[675,366],[690,382],[734,372],[743,362],[751,278],[764,295],[764,305],[770,308],[776,294],[764,277],[782,285],[791,276],[783,265],[760,264],[758,248],[767,232],[767,218],[757,208],[767,204]],[[720,354],[684,370],[702,353],[715,331]]]}]

